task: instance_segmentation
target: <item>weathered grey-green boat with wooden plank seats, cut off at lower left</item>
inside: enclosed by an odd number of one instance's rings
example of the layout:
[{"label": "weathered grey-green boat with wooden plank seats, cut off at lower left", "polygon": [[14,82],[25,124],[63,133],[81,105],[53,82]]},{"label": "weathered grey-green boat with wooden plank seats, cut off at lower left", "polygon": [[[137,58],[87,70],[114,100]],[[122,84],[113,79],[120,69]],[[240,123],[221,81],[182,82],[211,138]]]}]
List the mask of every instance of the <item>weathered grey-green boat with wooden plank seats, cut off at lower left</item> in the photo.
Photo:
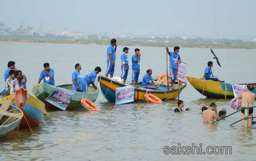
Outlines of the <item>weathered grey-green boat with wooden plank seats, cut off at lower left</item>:
[{"label": "weathered grey-green boat with wooden plank seats, cut off at lower left", "polygon": [[[8,136],[16,127],[19,127],[20,122],[23,118],[23,112],[13,105],[11,105],[11,101],[8,101],[7,98],[0,104],[0,140],[6,136]],[[9,111],[9,112],[6,112]],[[19,114],[12,116],[7,122],[5,122],[11,115]]]}]

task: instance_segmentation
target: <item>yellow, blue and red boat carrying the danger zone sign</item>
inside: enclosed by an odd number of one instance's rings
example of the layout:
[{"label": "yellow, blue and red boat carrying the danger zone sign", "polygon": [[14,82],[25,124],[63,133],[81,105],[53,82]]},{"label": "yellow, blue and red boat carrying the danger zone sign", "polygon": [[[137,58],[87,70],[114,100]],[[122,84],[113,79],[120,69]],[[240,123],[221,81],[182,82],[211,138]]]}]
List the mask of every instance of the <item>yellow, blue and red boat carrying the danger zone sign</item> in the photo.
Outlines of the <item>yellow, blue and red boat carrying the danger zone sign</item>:
[{"label": "yellow, blue and red boat carrying the danger zone sign", "polygon": [[[153,78],[155,84],[157,82],[157,78],[158,77]],[[98,77],[98,82],[100,83],[103,96],[105,96],[105,98],[110,102],[116,101],[116,88],[132,85],[132,82],[126,82],[126,84],[123,84],[112,79],[110,80],[109,78],[102,75]],[[178,96],[178,92],[181,92],[182,89],[185,88],[186,83],[181,83],[181,88],[179,89],[179,87],[176,87],[174,90],[167,90],[166,83],[162,83],[160,85],[160,90],[146,89],[142,87],[142,80],[138,81],[138,86],[141,87],[134,87],[134,101],[146,101],[144,94],[146,94],[147,91],[150,91],[150,93],[160,98],[161,100],[164,98],[167,98],[167,100],[172,100]]]}]

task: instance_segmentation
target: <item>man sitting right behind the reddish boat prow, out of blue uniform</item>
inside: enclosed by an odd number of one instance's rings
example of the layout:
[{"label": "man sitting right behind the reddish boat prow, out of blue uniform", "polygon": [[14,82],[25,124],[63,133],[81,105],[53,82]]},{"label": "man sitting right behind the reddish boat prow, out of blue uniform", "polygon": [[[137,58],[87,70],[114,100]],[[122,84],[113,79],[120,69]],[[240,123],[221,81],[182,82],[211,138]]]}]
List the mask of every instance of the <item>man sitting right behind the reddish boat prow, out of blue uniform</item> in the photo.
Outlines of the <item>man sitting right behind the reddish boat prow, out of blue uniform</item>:
[{"label": "man sitting right behind the reddish boat prow, out of blue uniform", "polygon": [[22,71],[17,70],[14,73],[16,79],[12,80],[11,82],[11,89],[10,94],[14,94],[15,90],[19,89],[20,87],[23,87],[26,89],[26,82],[22,78]]}]

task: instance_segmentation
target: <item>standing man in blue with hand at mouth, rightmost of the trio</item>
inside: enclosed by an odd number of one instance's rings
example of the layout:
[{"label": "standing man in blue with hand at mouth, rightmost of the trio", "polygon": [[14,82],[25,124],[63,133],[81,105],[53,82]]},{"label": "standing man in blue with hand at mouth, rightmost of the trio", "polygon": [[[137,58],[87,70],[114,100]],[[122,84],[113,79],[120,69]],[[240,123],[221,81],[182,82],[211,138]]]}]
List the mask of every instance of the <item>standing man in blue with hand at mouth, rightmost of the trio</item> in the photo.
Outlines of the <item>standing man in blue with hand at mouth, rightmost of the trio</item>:
[{"label": "standing man in blue with hand at mouth, rightmost of the trio", "polygon": [[132,56],[132,85],[138,85],[140,75],[140,49],[135,49],[135,54]]}]

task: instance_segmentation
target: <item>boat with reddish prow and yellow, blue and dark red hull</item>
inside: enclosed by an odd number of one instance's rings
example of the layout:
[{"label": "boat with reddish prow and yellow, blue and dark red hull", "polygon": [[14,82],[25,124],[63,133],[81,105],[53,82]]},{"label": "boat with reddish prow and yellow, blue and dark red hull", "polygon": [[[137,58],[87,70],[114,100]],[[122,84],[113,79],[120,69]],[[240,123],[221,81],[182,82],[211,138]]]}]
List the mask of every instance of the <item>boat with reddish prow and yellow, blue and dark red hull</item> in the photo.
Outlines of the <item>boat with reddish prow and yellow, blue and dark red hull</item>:
[{"label": "boat with reddish prow and yellow, blue and dark red hull", "polygon": [[[30,94],[27,94],[27,90],[23,87],[20,87],[20,89],[16,90],[15,95],[11,94],[2,98],[0,103],[3,103],[5,98],[7,98],[7,100],[12,100],[12,105],[21,108],[30,127],[41,125],[45,109],[45,104],[42,101],[38,100],[36,97]],[[13,98],[15,100],[13,100]],[[24,100],[26,100],[25,103]],[[28,128],[29,126],[23,117],[20,123],[20,128]]]}]

